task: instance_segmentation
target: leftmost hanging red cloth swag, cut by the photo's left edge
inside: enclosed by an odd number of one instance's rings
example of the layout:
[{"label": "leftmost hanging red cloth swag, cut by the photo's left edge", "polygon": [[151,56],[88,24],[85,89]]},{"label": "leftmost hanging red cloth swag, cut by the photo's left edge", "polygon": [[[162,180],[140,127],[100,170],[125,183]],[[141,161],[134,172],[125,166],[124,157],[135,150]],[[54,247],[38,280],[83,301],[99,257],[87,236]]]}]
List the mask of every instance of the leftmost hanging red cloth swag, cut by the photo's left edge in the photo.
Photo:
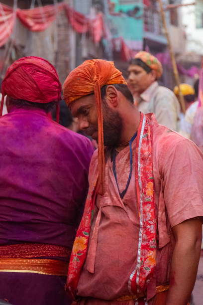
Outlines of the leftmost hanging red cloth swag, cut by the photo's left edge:
[{"label": "leftmost hanging red cloth swag, cut by the photo's left edge", "polygon": [[0,3],[0,47],[6,43],[12,33],[14,19],[12,8]]}]

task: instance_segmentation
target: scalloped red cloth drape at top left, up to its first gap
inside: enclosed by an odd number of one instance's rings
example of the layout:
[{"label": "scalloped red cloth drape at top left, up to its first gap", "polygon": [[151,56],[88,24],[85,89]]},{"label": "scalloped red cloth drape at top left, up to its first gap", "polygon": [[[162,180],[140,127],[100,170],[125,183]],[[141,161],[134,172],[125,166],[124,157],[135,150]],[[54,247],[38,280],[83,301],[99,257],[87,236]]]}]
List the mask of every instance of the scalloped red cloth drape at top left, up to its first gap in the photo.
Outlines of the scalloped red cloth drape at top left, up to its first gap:
[{"label": "scalloped red cloth drape at top left, up to its first gap", "polygon": [[106,36],[102,13],[99,13],[95,18],[89,18],[65,3],[30,9],[18,8],[15,13],[11,7],[0,3],[0,47],[12,33],[15,16],[30,31],[43,31],[50,26],[62,9],[65,10],[68,21],[78,33],[90,32],[94,42],[99,42],[103,36]]}]

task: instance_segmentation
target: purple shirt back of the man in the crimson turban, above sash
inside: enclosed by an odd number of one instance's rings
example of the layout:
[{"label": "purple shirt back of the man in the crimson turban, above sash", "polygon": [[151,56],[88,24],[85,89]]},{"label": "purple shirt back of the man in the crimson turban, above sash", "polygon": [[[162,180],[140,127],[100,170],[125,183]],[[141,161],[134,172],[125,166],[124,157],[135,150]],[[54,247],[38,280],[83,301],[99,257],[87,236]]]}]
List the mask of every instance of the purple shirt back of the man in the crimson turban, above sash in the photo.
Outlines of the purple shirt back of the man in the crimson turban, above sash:
[{"label": "purple shirt back of the man in the crimson turban, above sash", "polygon": [[93,150],[43,110],[14,108],[0,118],[0,245],[72,247]]}]

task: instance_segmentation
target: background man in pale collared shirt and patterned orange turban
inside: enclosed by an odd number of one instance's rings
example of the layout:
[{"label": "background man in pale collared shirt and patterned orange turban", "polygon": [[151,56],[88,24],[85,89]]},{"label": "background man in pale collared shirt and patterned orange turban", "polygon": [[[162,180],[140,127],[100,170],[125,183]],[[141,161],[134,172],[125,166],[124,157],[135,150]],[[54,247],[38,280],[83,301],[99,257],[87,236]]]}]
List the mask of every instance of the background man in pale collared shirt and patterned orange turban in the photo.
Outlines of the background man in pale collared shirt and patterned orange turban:
[{"label": "background man in pale collared shirt and patterned orange turban", "polygon": [[140,51],[129,62],[127,83],[139,111],[153,112],[159,124],[178,131],[180,105],[173,91],[159,86],[162,72],[155,56]]}]

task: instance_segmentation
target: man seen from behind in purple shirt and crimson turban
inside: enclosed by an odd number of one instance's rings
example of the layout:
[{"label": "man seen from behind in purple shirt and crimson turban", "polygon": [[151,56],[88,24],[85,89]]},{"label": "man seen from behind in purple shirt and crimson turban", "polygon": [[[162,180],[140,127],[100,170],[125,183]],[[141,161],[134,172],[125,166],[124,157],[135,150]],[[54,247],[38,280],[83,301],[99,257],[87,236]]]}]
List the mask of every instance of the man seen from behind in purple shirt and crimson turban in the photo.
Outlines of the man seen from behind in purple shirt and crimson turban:
[{"label": "man seen from behind in purple shirt and crimson turban", "polygon": [[61,100],[55,68],[24,57],[1,85],[0,299],[68,305],[64,290],[88,191],[91,142],[48,117]]}]

